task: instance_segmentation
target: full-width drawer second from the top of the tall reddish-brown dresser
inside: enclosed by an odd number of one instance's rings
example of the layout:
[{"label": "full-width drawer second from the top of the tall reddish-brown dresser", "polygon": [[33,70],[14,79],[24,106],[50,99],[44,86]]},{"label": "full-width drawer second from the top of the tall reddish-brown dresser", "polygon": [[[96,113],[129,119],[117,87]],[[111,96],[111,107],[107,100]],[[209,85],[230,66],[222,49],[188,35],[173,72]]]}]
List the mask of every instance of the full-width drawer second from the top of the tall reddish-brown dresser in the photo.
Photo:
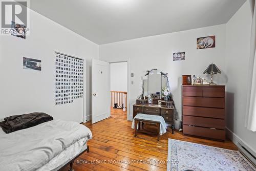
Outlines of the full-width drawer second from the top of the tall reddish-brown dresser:
[{"label": "full-width drawer second from the top of the tall reddish-brown dresser", "polygon": [[225,99],[183,96],[183,105],[201,106],[201,107],[210,107],[210,108],[225,108]]}]

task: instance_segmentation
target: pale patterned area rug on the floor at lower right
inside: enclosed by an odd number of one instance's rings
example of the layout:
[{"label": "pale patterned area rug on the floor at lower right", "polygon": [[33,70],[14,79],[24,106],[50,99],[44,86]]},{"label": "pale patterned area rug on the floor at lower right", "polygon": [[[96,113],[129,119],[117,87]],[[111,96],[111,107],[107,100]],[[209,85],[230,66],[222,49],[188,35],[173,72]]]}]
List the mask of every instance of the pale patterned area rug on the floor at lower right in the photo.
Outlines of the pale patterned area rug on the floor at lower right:
[{"label": "pale patterned area rug on the floor at lower right", "polygon": [[168,139],[167,170],[253,171],[256,168],[239,152]]}]

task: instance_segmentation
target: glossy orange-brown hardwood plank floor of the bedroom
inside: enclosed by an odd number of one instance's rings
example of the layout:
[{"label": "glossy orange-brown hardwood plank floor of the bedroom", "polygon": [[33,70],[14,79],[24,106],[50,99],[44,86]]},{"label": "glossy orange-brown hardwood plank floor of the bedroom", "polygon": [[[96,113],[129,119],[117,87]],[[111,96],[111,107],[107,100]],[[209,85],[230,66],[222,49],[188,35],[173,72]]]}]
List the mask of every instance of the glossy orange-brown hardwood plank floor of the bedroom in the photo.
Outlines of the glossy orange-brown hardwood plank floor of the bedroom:
[{"label": "glossy orange-brown hardwood plank floor of the bedroom", "polygon": [[[82,154],[74,162],[79,170],[166,170],[168,138],[195,142],[210,146],[237,149],[231,141],[218,142],[201,138],[183,136],[170,128],[160,141],[156,135],[139,133],[134,137],[131,121],[126,120],[126,112],[111,110],[111,117],[95,124],[84,123],[92,131],[89,140],[90,153]],[[152,129],[152,127],[150,127]],[[164,162],[164,163],[163,163]]]}]

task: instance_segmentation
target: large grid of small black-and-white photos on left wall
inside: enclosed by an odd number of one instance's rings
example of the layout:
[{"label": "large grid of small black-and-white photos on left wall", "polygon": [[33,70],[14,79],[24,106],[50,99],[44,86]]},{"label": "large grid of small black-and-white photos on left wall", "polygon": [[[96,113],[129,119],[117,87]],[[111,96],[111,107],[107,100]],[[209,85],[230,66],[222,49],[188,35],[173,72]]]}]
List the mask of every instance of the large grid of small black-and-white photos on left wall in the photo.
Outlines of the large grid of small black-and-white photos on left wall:
[{"label": "large grid of small black-and-white photos on left wall", "polygon": [[55,52],[55,105],[83,98],[83,59]]}]

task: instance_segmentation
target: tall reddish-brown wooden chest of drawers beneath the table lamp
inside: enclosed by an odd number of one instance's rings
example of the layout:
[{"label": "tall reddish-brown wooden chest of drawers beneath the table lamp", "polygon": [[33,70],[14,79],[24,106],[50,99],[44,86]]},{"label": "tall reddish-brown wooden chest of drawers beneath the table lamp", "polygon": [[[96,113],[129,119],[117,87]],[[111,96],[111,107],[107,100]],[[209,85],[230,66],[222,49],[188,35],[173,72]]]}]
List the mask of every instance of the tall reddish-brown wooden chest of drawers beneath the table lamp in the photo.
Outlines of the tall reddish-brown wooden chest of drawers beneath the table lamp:
[{"label": "tall reddish-brown wooden chest of drawers beneath the table lamp", "polygon": [[225,86],[182,87],[183,134],[225,141]]}]

